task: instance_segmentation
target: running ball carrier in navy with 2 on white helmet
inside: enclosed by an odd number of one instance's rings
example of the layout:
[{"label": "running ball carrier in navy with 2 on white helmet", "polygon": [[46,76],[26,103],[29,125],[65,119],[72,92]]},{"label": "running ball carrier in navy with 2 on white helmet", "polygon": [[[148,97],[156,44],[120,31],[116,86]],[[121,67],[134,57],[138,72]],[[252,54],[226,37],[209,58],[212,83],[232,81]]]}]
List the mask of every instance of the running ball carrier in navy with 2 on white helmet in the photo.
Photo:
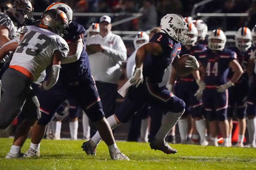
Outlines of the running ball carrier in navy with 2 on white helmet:
[{"label": "running ball carrier in navy with 2 on white helmet", "polygon": [[[129,121],[145,103],[168,112],[155,139],[150,143],[151,149],[161,150],[167,154],[177,152],[165,142],[165,137],[183,114],[185,103],[169,91],[160,89],[158,83],[162,81],[165,69],[171,64],[180,76],[191,74],[199,68],[196,58],[191,55],[189,56],[191,60],[185,62],[185,66],[189,67],[187,72],[178,68],[180,43],[187,40],[187,30],[186,22],[180,15],[167,14],[161,19],[161,31],[156,33],[149,43],[137,50],[136,70],[130,81],[132,87],[129,88],[124,102],[117,113],[107,119],[111,128],[114,129],[117,125]],[[127,87],[123,88],[125,91]],[[97,131],[86,144],[96,149],[100,140],[101,137]]]}]

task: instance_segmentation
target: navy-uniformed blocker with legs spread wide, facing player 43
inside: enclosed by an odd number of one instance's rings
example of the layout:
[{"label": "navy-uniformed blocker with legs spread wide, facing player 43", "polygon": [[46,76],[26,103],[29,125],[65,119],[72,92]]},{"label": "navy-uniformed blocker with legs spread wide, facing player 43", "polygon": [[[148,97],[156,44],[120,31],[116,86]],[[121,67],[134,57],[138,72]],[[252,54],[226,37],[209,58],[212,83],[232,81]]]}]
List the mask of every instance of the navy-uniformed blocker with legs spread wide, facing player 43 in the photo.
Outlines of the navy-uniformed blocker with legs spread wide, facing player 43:
[{"label": "navy-uniformed blocker with legs spread wide, facing player 43", "polygon": [[[111,159],[129,160],[117,148],[113,133],[102,111],[100,97],[91,75],[88,55],[85,52],[83,40],[85,29],[82,25],[72,21],[73,12],[68,5],[53,3],[46,10],[55,8],[63,10],[68,15],[70,24],[66,41],[70,44],[75,44],[72,48],[77,50],[73,55],[69,56],[69,60],[75,60],[75,62],[61,65],[59,81],[54,88],[40,92],[38,100],[42,117],[32,129],[30,147],[24,157],[39,157],[40,142],[44,137],[46,125],[51,121],[60,105],[66,99],[73,98],[100,130],[100,134],[103,135],[104,141],[108,145]],[[84,148],[87,147],[87,145],[84,145]],[[95,152],[93,150],[90,151]]]}]

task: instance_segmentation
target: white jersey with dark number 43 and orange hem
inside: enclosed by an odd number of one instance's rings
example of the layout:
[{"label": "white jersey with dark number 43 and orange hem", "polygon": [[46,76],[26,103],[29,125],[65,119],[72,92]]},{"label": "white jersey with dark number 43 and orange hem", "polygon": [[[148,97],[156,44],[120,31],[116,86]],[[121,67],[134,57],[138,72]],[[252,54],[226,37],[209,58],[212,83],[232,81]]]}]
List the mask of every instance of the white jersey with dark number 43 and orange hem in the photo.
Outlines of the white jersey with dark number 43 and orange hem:
[{"label": "white jersey with dark number 43 and orange hem", "polygon": [[52,64],[54,51],[60,51],[65,58],[69,48],[64,39],[49,30],[36,26],[26,26],[24,29],[28,31],[13,54],[10,67],[25,68],[33,75],[35,82],[46,67]]}]

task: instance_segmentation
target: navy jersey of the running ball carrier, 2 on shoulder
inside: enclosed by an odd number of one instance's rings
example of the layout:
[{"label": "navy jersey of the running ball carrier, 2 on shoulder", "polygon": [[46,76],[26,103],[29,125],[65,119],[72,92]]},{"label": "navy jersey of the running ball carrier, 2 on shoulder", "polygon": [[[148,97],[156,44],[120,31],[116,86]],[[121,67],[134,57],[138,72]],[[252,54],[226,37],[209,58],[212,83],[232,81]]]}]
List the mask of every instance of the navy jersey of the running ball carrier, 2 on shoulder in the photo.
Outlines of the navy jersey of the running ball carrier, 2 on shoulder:
[{"label": "navy jersey of the running ball carrier, 2 on shoulder", "polygon": [[156,33],[149,42],[160,44],[163,53],[155,56],[148,54],[143,62],[143,77],[150,78],[150,81],[162,82],[165,69],[172,64],[174,58],[179,55],[181,45],[165,33]]}]

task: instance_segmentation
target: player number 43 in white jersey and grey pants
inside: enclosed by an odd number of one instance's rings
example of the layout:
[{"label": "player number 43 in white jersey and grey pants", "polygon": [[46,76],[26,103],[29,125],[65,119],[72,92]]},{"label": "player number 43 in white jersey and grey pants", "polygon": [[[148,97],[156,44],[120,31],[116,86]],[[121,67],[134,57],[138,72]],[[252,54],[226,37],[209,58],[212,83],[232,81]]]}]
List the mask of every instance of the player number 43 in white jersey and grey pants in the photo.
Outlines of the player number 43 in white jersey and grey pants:
[{"label": "player number 43 in white jersey and grey pants", "polygon": [[[30,85],[47,66],[52,65],[51,75],[40,86],[45,90],[50,89],[58,80],[61,58],[68,55],[68,44],[61,38],[64,37],[65,28],[68,26],[66,14],[60,10],[44,12],[39,26],[41,28],[27,26],[24,35],[11,40],[0,49],[1,60],[4,54],[16,49],[10,67],[2,77],[4,94],[0,102],[1,128],[7,127],[18,116],[25,102],[26,118],[35,120],[41,117],[39,102]],[[21,131],[20,135],[29,132]],[[15,139],[17,137],[20,136],[16,133]],[[12,145],[6,158],[22,157],[20,147]]]}]

